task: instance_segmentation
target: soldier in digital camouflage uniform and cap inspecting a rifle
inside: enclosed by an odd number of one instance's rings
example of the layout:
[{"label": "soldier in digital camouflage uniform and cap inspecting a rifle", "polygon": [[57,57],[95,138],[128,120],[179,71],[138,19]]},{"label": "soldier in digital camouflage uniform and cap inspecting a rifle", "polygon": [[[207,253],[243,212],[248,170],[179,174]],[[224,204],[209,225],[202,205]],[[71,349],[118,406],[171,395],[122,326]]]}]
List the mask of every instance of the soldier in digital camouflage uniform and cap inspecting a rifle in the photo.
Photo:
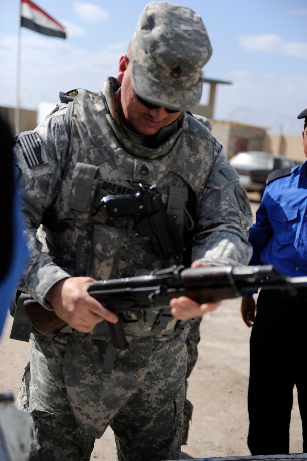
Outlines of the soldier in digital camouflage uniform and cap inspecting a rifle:
[{"label": "soldier in digital camouflage uniform and cap inspecting a rifle", "polygon": [[108,77],[97,96],[79,90],[18,137],[30,248],[21,288],[69,325],[32,335],[18,396],[32,420],[30,460],[89,460],[108,425],[120,461],[180,458],[187,319],[218,303],[181,297],[163,306],[159,321],[159,310],[127,315],[129,349],[116,351],[102,320],[117,317],[87,289],[93,280],[181,260],[158,260],[132,219],[110,218],[98,206],[103,195],[131,194],[138,183],[157,184],[181,235],[190,219],[187,197],[195,196],[194,266],[248,262],[246,194],[222,146],[185,112],[199,102],[210,56],[199,15],[151,2],[129,58],[120,58],[117,80]]}]

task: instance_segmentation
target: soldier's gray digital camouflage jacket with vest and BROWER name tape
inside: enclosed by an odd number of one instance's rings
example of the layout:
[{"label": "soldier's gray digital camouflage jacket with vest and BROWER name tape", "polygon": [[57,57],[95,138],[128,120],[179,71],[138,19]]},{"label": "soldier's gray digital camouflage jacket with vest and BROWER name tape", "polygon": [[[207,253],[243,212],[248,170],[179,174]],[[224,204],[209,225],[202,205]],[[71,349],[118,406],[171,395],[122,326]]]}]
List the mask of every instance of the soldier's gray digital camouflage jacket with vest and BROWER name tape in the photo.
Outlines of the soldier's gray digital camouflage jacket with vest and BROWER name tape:
[{"label": "soldier's gray digital camouflage jacket with vest and BROWER name tape", "polygon": [[[19,193],[30,250],[22,289],[47,308],[46,293],[67,276],[126,277],[174,263],[157,260],[150,238],[138,236],[131,219],[109,218],[103,209],[92,216],[98,189],[131,193],[139,182],[156,183],[167,204],[172,187],[182,192],[190,186],[197,197],[192,260],[241,265],[251,257],[249,202],[210,130],[196,120],[191,124],[183,113],[159,147],[139,146],[121,128],[114,82],[107,78],[103,94],[73,101],[70,139],[66,106],[18,137]],[[66,230],[41,225],[46,211],[66,223]],[[183,220],[177,224],[182,231]]]}]

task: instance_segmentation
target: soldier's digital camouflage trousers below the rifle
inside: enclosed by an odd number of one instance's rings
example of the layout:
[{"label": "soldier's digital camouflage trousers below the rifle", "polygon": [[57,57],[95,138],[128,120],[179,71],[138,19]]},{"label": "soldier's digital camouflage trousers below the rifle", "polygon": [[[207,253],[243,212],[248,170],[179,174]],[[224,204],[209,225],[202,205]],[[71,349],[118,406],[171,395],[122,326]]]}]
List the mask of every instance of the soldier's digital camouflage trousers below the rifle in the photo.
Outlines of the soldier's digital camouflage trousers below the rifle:
[{"label": "soldier's digital camouflage trousers below the rifle", "polygon": [[17,401],[32,422],[29,460],[90,460],[108,425],[119,461],[179,459],[187,332],[127,338],[111,374],[102,373],[107,341],[36,335]]}]

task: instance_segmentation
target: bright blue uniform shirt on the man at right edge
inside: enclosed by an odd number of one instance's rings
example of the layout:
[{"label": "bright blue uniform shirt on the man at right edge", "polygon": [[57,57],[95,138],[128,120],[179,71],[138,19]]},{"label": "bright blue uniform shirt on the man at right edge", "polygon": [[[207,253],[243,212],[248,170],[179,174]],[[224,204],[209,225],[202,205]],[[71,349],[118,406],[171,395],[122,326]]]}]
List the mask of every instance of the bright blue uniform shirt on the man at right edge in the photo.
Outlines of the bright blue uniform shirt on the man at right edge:
[{"label": "bright blue uniform shirt on the man at right edge", "polygon": [[271,264],[284,275],[307,275],[307,162],[266,186],[249,242],[250,266]]}]

